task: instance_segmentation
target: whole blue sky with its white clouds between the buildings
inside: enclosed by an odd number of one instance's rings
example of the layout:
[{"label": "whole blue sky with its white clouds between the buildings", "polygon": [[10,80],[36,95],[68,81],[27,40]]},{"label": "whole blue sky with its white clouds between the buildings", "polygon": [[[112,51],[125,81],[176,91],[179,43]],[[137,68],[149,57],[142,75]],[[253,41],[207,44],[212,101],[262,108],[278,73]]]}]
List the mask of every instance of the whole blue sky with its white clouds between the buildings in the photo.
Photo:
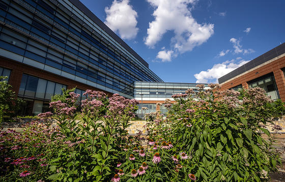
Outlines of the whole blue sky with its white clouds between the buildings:
[{"label": "whole blue sky with its white clouds between the buildings", "polygon": [[285,40],[283,0],[80,1],[165,82],[217,82]]}]

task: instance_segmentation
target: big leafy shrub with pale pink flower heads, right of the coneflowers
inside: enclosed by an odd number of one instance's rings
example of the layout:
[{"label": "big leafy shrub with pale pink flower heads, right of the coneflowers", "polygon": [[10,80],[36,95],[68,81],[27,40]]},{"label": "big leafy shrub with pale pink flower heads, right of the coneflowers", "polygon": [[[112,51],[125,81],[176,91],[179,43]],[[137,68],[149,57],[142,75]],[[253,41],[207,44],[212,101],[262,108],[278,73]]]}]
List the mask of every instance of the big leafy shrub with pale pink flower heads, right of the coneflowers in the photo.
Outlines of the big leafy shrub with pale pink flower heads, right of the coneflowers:
[{"label": "big leafy shrub with pale pink flower heads, right of the coneflowers", "polygon": [[209,84],[209,90],[197,86],[197,94],[189,89],[173,96],[176,103],[169,107],[166,124],[153,124],[150,136],[173,139],[176,153],[191,156],[186,168],[197,181],[268,180],[281,162],[273,140],[261,137],[271,137],[263,126],[272,123],[272,100],[259,87],[243,90],[241,99],[235,90],[218,91],[217,84]]}]

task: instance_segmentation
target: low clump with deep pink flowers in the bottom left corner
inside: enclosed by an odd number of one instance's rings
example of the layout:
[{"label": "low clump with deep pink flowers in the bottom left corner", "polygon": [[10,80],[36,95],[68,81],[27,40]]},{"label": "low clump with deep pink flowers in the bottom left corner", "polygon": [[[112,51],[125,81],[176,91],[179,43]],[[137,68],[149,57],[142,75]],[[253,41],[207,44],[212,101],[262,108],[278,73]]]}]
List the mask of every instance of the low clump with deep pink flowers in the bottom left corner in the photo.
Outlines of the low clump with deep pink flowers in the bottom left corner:
[{"label": "low clump with deep pink flowers in the bottom left corner", "polygon": [[48,161],[51,155],[48,149],[63,145],[63,136],[51,136],[58,127],[32,122],[23,126],[23,131],[1,131],[0,133],[0,180],[1,181],[33,181],[46,179]]}]

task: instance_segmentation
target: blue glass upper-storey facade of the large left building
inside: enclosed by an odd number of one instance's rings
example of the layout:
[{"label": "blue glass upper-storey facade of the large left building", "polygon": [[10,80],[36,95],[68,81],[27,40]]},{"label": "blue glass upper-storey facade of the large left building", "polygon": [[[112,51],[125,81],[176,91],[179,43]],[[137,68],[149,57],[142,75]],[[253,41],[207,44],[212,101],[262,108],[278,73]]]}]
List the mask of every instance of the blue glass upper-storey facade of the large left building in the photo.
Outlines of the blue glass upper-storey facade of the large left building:
[{"label": "blue glass upper-storey facade of the large left building", "polygon": [[[13,1],[2,4],[2,7],[7,7],[1,12],[5,14],[4,22],[16,29],[14,31],[8,26],[1,29],[0,47],[3,49],[76,74],[83,78],[82,82],[91,76],[93,78],[89,79],[93,82],[129,98],[133,97],[134,81],[162,81],[143,59],[133,55],[133,50],[119,43],[122,40],[112,38],[104,27],[98,26],[97,19],[88,17],[84,10],[79,10],[69,1],[55,4],[40,0]],[[79,62],[83,70],[76,71],[75,65]],[[111,79],[106,80],[106,75]],[[118,82],[113,82],[114,78]]]}]

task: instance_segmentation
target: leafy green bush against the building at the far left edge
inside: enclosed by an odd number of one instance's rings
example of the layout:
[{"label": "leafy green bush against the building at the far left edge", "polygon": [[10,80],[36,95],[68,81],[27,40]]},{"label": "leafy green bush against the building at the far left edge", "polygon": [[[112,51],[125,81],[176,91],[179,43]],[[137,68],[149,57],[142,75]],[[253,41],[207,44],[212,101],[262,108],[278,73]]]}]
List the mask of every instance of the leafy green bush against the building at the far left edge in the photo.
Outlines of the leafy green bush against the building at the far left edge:
[{"label": "leafy green bush against the building at the far left edge", "polygon": [[0,124],[4,116],[14,116],[23,103],[23,100],[18,99],[16,93],[12,91],[12,85],[8,84],[7,78],[0,76]]}]

